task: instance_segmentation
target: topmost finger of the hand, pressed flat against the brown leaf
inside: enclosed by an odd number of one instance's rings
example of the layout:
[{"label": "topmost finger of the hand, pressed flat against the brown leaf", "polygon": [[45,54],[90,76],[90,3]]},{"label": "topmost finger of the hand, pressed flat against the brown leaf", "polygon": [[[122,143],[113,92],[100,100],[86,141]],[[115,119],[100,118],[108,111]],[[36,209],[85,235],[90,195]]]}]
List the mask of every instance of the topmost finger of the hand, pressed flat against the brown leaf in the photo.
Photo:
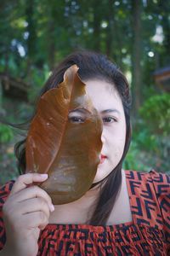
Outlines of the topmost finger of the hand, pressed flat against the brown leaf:
[{"label": "topmost finger of the hand, pressed flat against the brown leaf", "polygon": [[17,180],[14,183],[13,189],[11,190],[10,195],[13,195],[14,193],[26,189],[28,185],[35,182],[42,183],[48,178],[48,174],[40,174],[40,173],[26,173],[23,175],[20,175]]}]

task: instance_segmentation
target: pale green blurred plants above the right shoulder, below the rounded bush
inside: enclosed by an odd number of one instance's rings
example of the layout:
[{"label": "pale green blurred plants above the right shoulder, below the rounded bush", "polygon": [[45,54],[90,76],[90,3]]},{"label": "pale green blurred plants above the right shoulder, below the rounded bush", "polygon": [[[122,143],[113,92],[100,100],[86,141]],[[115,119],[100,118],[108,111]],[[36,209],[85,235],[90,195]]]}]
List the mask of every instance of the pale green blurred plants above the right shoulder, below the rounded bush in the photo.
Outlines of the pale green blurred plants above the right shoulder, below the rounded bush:
[{"label": "pale green blurred plants above the right shoulder, below the rounded bush", "polygon": [[148,172],[150,169],[156,169],[157,172],[168,172],[169,150],[169,134],[162,136],[162,134],[153,133],[150,124],[146,125],[144,119],[138,119],[133,124],[132,143],[123,167],[143,172]]}]

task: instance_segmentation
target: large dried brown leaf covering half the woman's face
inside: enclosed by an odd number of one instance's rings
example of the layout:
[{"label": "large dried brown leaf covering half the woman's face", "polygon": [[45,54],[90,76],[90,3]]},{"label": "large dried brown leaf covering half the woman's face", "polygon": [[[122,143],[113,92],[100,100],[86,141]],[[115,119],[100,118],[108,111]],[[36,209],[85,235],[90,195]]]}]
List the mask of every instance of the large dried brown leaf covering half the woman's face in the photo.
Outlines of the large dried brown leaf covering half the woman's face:
[{"label": "large dried brown leaf covering half the woman's face", "polygon": [[[76,201],[91,187],[102,147],[102,120],[77,74],[65,72],[64,81],[39,100],[26,139],[26,172],[48,173],[40,184],[54,204]],[[69,118],[81,109],[82,123]]]}]

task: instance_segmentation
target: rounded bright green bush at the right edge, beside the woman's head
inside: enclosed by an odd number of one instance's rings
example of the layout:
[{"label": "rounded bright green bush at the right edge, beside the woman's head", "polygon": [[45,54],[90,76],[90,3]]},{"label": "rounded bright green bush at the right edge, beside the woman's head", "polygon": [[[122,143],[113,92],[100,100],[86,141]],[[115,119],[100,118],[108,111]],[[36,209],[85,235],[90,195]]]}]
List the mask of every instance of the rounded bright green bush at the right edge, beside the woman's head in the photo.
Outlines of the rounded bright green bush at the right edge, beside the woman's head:
[{"label": "rounded bright green bush at the right edge, beside the woman's head", "polygon": [[150,96],[139,113],[150,131],[165,136],[170,133],[170,94]]}]

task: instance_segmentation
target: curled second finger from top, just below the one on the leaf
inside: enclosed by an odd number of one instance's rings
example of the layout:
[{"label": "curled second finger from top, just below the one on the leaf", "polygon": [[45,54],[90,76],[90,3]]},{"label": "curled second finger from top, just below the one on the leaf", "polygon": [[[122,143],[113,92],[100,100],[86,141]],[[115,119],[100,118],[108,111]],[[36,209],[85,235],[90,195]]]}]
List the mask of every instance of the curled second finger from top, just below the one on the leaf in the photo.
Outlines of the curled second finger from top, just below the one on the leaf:
[{"label": "curled second finger from top, just below the one on the leaf", "polygon": [[54,205],[52,204],[51,197],[45,190],[39,188],[38,186],[31,186],[13,195],[13,201],[17,202],[28,201],[29,199],[33,198],[42,198],[48,203],[50,211],[54,211]]}]

